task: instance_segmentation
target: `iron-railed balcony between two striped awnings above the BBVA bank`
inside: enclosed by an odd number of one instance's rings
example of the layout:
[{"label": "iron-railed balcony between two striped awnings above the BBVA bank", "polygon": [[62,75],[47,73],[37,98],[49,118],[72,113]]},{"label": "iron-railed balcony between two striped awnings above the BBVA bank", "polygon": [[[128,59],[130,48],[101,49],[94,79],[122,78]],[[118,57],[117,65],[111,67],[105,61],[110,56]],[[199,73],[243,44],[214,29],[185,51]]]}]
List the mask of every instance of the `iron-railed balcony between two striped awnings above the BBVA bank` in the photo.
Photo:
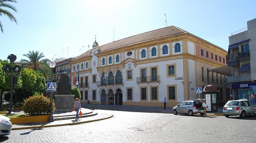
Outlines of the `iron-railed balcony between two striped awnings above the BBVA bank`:
[{"label": "iron-railed balcony between two striped awnings above the BBVA bank", "polygon": [[234,61],[241,61],[241,60],[247,60],[250,59],[250,51],[240,51],[240,52],[234,52],[232,54],[226,55],[227,64],[229,62]]}]

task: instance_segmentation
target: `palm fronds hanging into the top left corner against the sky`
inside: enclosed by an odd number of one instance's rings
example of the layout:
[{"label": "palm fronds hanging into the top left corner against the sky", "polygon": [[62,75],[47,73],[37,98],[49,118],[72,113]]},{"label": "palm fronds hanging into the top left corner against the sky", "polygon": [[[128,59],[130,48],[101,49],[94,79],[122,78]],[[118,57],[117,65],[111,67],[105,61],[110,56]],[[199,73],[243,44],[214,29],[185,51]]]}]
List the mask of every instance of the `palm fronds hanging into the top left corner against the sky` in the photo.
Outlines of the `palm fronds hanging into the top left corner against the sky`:
[{"label": "palm fronds hanging into the top left corner against the sky", "polygon": [[[10,11],[3,9],[3,8],[9,8],[9,9],[12,9],[13,11],[17,12],[17,9],[14,6],[8,4],[8,2],[16,3],[16,0],[0,0],[0,16],[5,15],[11,21],[14,21],[17,24],[16,18],[14,17],[14,15],[12,13],[10,13]],[[1,21],[0,21],[0,29],[3,33],[4,29],[3,29],[3,24],[1,23]]]}]

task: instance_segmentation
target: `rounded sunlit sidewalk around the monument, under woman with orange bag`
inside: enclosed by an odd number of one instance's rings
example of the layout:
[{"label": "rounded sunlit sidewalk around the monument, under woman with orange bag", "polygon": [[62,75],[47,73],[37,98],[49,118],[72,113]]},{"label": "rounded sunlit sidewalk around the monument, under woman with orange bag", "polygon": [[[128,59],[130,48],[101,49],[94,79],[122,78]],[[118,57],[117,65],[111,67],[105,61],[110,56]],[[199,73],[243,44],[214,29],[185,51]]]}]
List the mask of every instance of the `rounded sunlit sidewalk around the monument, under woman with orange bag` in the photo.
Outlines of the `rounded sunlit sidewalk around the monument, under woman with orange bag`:
[{"label": "rounded sunlit sidewalk around the monument, under woman with orange bag", "polygon": [[93,116],[80,118],[75,120],[76,112],[54,112],[53,117],[56,118],[66,118],[66,117],[74,117],[73,119],[64,119],[64,120],[54,120],[54,122],[38,122],[38,123],[27,123],[27,124],[13,124],[12,130],[22,130],[22,129],[32,129],[32,128],[46,128],[53,126],[66,126],[66,125],[74,125],[74,124],[82,124],[87,122],[95,122],[98,120],[105,120],[113,117],[113,115],[99,113],[97,110],[92,111],[89,109],[81,108],[83,115],[94,114]]}]

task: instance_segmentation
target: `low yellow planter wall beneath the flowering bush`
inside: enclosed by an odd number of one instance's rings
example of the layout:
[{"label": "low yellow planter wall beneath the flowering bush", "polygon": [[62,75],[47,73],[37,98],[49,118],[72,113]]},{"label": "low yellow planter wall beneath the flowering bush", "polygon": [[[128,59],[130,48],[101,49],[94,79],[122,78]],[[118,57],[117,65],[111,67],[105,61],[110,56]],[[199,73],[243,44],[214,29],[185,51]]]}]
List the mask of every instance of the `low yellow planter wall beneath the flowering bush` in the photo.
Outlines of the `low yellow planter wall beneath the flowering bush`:
[{"label": "low yellow planter wall beneath the flowering bush", "polygon": [[35,123],[35,122],[47,122],[50,115],[38,115],[38,116],[28,116],[28,117],[17,117],[10,118],[12,124],[24,124],[24,123]]}]

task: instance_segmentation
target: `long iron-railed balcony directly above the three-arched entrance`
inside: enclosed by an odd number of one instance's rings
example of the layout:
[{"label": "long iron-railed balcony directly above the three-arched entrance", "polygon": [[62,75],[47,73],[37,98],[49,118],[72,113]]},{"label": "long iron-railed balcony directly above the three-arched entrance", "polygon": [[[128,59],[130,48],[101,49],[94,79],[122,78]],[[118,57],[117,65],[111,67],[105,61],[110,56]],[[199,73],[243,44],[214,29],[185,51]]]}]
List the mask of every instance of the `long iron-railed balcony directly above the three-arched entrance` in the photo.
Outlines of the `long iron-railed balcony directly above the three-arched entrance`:
[{"label": "long iron-railed balcony directly above the three-arched entrance", "polygon": [[97,86],[106,86],[106,85],[122,85],[123,79],[119,76],[105,77],[101,81],[97,81]]}]

